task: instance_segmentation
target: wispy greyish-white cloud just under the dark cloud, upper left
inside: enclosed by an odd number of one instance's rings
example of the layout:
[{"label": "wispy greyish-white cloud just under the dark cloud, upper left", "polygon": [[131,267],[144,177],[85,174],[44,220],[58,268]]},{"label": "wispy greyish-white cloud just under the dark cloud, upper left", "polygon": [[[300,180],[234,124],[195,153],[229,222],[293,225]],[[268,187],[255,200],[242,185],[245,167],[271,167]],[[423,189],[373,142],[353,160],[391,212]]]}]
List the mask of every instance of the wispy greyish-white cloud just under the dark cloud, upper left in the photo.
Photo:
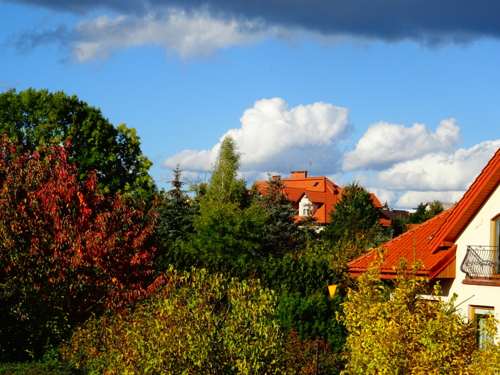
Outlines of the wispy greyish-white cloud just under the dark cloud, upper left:
[{"label": "wispy greyish-white cloud just under the dark cloud, upper left", "polygon": [[78,62],[107,59],[119,49],[148,44],[162,47],[167,53],[178,53],[181,59],[209,56],[218,49],[264,38],[262,25],[257,21],[215,19],[206,11],[188,14],[179,9],[141,18],[102,15],[81,21],[72,34],[72,53]]}]

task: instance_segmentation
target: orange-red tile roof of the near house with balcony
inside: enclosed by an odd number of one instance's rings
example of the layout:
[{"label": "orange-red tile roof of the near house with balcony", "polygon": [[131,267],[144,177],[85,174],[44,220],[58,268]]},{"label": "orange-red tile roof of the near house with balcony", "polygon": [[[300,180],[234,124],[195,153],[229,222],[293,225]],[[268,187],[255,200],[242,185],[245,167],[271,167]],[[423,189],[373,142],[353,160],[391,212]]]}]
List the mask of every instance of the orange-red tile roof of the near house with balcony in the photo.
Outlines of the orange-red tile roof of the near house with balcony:
[{"label": "orange-red tile roof of the near house with balcony", "polygon": [[[392,277],[399,258],[423,262],[422,273],[435,277],[455,257],[456,238],[500,183],[500,149],[482,169],[456,205],[413,227],[380,247],[386,249],[382,276]],[[374,251],[347,264],[351,275],[366,270],[374,259]]]}]

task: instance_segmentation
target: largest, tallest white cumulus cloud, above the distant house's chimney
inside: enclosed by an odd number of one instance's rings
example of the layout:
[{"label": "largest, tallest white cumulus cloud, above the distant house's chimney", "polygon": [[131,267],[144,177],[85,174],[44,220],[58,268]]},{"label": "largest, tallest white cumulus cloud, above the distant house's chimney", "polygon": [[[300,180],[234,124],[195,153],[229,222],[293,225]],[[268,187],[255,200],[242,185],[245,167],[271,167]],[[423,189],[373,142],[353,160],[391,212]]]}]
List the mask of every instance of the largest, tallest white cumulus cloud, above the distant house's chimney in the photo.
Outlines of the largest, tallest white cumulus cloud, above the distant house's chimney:
[{"label": "largest, tallest white cumulus cloud, above the distant house's chimney", "polygon": [[[262,99],[246,109],[241,126],[229,129],[242,152],[241,170],[288,171],[308,167],[313,156],[314,169],[333,172],[338,167],[340,151],[337,145],[349,134],[349,112],[346,108],[316,102],[288,108],[281,98]],[[215,159],[220,143],[210,150],[184,150],[165,159],[162,166],[204,171]],[[248,175],[253,175],[253,174]],[[318,174],[316,173],[316,174]]]}]

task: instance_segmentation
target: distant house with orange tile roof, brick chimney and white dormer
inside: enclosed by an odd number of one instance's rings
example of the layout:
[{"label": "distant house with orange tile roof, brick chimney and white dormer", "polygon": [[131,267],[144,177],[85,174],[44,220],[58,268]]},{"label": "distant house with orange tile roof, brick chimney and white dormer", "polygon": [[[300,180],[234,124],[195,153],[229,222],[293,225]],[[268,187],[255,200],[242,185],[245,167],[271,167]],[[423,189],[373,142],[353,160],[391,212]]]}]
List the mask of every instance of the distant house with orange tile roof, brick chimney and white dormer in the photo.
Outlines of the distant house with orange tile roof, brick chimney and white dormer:
[{"label": "distant house with orange tile roof, brick chimney and white dormer", "polygon": [[[324,176],[308,177],[305,170],[292,171],[290,174],[289,178],[283,178],[283,193],[293,202],[293,208],[297,211],[295,219],[299,221],[311,210],[311,216],[318,224],[328,223],[330,212],[340,200],[343,188]],[[267,187],[266,181],[256,181],[256,184],[261,192]],[[375,207],[383,207],[375,194],[370,193],[370,196]]]}]

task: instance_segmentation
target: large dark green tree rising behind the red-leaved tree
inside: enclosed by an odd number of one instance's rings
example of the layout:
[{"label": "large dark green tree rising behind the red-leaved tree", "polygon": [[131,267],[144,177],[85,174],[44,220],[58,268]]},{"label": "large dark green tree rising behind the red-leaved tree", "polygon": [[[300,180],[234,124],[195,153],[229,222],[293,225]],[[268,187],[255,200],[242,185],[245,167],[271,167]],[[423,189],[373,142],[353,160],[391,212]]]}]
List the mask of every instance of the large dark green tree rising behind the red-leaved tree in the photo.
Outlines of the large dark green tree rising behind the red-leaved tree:
[{"label": "large dark green tree rising behind the red-leaved tree", "polygon": [[33,152],[43,144],[71,141],[69,159],[78,167],[80,179],[96,170],[99,189],[150,201],[156,186],[148,169],[152,163],[140,150],[134,128],[114,127],[100,109],[76,95],[29,88],[0,94],[0,135],[7,134]]}]

